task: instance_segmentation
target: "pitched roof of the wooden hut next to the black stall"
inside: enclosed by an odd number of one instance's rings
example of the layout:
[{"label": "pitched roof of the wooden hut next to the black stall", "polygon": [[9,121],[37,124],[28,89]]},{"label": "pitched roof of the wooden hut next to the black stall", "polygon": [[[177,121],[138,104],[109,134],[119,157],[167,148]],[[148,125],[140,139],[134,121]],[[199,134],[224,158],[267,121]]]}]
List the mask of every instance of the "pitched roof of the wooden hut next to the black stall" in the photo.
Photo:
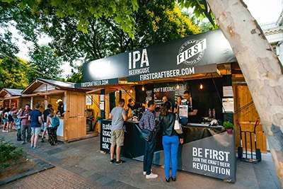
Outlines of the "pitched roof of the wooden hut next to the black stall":
[{"label": "pitched roof of the wooden hut next to the black stall", "polygon": [[64,90],[64,91],[90,91],[91,90],[88,88],[75,88],[74,83],[70,83],[70,82],[37,78],[27,88],[25,88],[22,91],[22,94],[31,94],[33,93],[33,91],[35,91],[35,89],[40,87],[42,84],[54,86],[55,89]]}]

